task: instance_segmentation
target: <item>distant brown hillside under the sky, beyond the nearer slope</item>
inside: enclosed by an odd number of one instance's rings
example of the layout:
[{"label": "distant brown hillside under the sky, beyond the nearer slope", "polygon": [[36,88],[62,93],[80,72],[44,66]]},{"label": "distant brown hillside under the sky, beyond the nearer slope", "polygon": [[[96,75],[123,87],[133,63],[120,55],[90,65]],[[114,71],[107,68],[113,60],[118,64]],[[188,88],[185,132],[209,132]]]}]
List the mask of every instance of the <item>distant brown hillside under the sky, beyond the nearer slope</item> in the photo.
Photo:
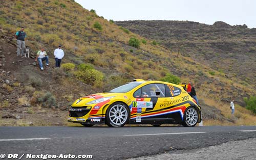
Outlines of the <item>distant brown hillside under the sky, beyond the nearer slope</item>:
[{"label": "distant brown hillside under the sky, beyond the nearer slope", "polygon": [[256,29],[248,29],[245,24],[231,26],[218,21],[207,25],[167,20],[115,23],[223,72],[229,79],[236,77],[244,85],[256,85]]}]

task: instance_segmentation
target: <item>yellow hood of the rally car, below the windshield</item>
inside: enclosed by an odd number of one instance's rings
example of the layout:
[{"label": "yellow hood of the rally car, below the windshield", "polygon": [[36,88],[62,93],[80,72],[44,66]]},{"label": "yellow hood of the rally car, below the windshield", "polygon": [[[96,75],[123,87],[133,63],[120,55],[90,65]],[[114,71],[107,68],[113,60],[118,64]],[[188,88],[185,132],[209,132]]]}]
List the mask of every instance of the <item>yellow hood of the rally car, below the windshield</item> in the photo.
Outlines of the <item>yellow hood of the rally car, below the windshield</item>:
[{"label": "yellow hood of the rally car, below the windshield", "polygon": [[[88,95],[88,96],[76,99],[72,104],[72,106],[84,106],[84,105],[87,105],[86,103],[99,98],[103,98],[103,97],[116,98],[116,97],[124,96],[124,94],[125,93],[96,93],[96,94],[92,94],[92,95]],[[88,105],[93,105],[93,104],[88,104]]]}]

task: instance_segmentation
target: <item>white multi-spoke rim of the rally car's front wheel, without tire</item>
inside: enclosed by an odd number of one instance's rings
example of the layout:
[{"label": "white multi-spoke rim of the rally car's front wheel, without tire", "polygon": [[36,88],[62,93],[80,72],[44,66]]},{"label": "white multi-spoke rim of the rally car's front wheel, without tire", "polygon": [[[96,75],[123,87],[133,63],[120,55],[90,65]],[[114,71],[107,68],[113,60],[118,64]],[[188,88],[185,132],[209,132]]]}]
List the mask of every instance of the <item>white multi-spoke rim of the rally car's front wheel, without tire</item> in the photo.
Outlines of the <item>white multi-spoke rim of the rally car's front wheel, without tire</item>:
[{"label": "white multi-spoke rim of the rally car's front wheel, without tire", "polygon": [[110,120],[115,125],[122,125],[126,122],[128,113],[125,109],[125,106],[116,104],[110,109]]}]

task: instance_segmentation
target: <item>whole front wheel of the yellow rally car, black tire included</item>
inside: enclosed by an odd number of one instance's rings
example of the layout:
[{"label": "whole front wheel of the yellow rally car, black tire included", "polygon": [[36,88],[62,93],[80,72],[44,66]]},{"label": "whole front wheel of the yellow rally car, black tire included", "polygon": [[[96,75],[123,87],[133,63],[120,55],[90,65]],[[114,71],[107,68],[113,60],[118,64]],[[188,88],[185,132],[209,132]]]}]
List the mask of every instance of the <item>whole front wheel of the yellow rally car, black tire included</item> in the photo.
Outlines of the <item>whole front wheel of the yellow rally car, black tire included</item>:
[{"label": "whole front wheel of the yellow rally car, black tire included", "polygon": [[111,127],[122,127],[130,119],[130,111],[122,102],[111,104],[106,111],[106,124]]}]

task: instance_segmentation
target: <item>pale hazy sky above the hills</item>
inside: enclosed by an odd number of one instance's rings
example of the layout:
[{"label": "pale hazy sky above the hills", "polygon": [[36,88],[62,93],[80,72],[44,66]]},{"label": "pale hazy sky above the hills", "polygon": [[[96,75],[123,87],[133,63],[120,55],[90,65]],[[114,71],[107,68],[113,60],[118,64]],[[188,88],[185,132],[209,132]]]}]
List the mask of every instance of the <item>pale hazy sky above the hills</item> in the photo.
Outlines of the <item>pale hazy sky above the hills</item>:
[{"label": "pale hazy sky above the hills", "polygon": [[188,20],[205,24],[224,21],[256,28],[254,0],[75,0],[105,19]]}]

